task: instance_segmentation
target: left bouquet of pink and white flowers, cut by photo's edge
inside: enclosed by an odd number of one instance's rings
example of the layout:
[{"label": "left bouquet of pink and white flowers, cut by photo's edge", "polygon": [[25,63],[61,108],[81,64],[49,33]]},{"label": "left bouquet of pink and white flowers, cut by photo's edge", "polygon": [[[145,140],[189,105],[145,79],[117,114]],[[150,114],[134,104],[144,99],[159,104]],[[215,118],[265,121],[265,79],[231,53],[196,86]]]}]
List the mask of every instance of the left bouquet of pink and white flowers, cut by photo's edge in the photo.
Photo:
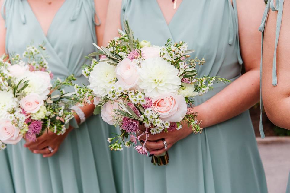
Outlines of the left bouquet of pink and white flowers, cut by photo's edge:
[{"label": "left bouquet of pink and white flowers, cut by photo's edge", "polygon": [[75,80],[57,79],[51,84],[53,74],[40,45],[27,46],[23,60],[19,54],[9,60],[0,57],[0,149],[5,144],[17,144],[23,137],[35,141],[43,132],[50,130],[63,134],[74,117],[69,109],[74,100],[72,93],[65,93],[64,82]]}]

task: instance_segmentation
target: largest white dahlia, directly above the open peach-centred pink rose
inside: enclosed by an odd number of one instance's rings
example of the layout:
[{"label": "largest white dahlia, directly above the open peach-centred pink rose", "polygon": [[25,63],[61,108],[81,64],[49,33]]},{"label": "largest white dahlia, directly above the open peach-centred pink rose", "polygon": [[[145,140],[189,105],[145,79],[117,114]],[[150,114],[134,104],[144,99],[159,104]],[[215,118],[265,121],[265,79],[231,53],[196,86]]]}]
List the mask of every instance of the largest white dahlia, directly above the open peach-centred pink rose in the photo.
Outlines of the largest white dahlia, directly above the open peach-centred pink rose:
[{"label": "largest white dahlia, directly above the open peach-centred pink rose", "polygon": [[156,97],[164,93],[177,93],[181,80],[179,70],[163,58],[148,58],[142,61],[139,68],[139,87],[146,96]]}]

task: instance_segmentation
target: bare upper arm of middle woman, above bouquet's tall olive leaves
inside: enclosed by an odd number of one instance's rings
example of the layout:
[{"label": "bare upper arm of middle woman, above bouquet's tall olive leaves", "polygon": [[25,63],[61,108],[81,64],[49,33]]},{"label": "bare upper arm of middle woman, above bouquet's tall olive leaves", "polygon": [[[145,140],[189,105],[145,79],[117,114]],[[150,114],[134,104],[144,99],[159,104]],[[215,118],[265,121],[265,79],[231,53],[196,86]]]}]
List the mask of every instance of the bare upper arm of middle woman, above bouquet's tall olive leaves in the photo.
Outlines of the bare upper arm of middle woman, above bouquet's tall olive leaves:
[{"label": "bare upper arm of middle woman, above bouquet's tall olive leaves", "polygon": [[107,45],[108,41],[113,37],[119,36],[117,29],[122,28],[121,6],[122,0],[109,0],[103,45]]}]

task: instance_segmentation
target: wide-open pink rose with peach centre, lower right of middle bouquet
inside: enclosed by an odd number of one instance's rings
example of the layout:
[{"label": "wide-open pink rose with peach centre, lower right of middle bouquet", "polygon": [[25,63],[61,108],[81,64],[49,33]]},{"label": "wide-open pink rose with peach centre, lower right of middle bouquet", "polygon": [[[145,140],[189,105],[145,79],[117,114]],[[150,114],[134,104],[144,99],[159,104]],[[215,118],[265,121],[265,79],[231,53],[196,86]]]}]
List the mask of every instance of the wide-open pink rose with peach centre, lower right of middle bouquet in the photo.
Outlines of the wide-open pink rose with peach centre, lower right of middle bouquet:
[{"label": "wide-open pink rose with peach centre, lower right of middle bouquet", "polygon": [[187,104],[182,95],[167,93],[152,99],[152,112],[158,113],[163,121],[180,122],[187,112]]}]

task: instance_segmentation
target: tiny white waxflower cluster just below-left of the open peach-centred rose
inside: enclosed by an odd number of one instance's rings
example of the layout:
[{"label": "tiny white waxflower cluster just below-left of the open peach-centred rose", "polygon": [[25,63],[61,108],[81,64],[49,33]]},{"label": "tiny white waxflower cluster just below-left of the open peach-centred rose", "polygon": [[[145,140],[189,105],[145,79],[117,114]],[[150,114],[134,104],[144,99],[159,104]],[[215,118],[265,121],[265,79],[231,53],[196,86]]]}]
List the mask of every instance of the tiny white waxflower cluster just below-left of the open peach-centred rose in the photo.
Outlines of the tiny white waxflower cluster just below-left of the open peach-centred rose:
[{"label": "tiny white waxflower cluster just below-left of the open peach-centred rose", "polygon": [[144,111],[145,118],[147,118],[144,122],[144,126],[149,128],[151,125],[154,127],[150,129],[151,134],[159,134],[165,128],[169,128],[170,123],[168,121],[162,121],[158,118],[158,115],[152,112],[152,109],[148,108]]}]

